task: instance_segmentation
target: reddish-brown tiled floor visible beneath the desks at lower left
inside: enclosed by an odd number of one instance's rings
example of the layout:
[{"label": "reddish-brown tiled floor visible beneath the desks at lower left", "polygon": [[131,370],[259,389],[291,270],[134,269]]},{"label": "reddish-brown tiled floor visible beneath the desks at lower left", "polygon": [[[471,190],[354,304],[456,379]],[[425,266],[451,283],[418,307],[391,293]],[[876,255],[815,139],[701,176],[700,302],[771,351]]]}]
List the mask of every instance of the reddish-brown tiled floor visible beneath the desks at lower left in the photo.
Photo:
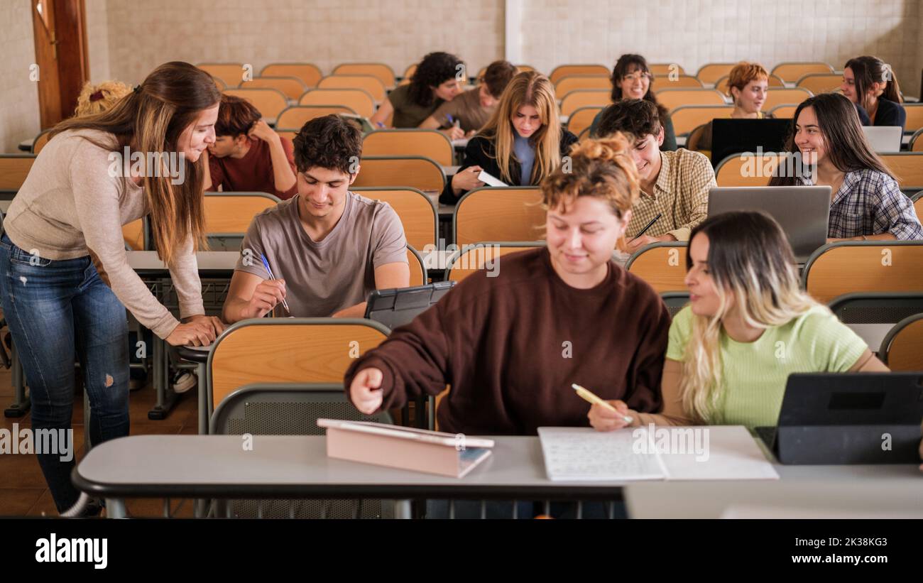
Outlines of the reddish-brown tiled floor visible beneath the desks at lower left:
[{"label": "reddish-brown tiled floor visible beneath the desks at lower left", "polygon": [[[184,393],[179,402],[163,421],[150,421],[148,411],[156,402],[154,390],[150,387],[131,392],[129,414],[131,416],[131,434],[196,434],[198,421],[196,414],[196,391],[192,388]],[[74,442],[77,460],[83,458],[86,450],[83,444],[83,401],[80,394],[74,397]],[[13,387],[10,384],[10,372],[0,367],[0,409],[6,409],[13,400]],[[30,427],[30,415],[18,419],[6,419],[0,415],[0,427],[12,429]],[[172,506],[179,505],[173,500]],[[133,517],[162,517],[161,499],[138,499],[126,502],[128,514]],[[45,485],[39,462],[34,456],[0,455],[0,517],[55,517],[51,492]],[[179,517],[192,516],[192,501],[186,503],[176,513]]]}]

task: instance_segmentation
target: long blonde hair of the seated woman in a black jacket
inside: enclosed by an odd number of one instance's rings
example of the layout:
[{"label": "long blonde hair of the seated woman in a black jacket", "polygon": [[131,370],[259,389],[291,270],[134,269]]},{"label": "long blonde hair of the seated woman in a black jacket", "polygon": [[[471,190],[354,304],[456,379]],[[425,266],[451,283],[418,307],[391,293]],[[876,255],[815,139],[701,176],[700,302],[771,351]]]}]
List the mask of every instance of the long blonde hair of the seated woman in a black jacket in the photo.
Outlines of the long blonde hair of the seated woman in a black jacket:
[{"label": "long blonde hair of the seated woman in a black jacket", "polygon": [[[508,184],[514,182],[509,173],[509,161],[514,156],[513,141],[516,137],[511,120],[523,105],[534,107],[542,122],[542,127],[529,138],[535,147],[532,184],[539,184],[561,163],[561,121],[557,117],[555,89],[548,77],[535,71],[523,71],[513,77],[500,97],[497,111],[482,128],[481,134],[495,144],[493,158],[500,168],[500,179]],[[488,152],[485,154],[489,155]]]}]

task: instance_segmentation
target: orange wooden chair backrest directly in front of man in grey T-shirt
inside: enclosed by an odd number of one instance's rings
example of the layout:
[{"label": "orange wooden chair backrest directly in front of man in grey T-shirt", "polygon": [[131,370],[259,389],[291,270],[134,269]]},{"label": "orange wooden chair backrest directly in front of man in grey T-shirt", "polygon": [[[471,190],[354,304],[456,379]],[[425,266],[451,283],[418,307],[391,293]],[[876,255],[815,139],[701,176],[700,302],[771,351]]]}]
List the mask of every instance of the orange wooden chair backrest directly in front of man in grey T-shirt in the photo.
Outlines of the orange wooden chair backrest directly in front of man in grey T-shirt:
[{"label": "orange wooden chair backrest directly in front of man in grey T-shirt", "polygon": [[252,383],[342,383],[349,365],[389,330],[360,318],[259,318],[215,340],[207,365],[210,410]]}]

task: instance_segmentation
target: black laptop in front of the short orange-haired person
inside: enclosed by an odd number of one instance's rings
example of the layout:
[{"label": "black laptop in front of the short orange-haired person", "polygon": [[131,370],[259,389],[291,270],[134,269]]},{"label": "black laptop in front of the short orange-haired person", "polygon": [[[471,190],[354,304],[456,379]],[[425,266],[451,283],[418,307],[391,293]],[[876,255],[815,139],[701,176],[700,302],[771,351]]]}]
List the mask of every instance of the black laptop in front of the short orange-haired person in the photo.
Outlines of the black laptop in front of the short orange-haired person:
[{"label": "black laptop in front of the short orange-haired person", "polygon": [[781,152],[791,131],[790,119],[715,119],[712,122],[712,165],[731,154]]}]

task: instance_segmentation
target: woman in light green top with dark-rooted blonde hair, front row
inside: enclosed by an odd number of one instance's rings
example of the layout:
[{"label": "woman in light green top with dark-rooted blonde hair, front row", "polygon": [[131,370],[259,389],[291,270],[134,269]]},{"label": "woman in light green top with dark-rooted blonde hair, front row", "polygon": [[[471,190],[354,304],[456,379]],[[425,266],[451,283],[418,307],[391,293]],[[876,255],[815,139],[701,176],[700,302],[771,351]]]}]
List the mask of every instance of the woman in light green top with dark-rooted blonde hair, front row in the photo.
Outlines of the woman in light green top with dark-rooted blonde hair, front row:
[{"label": "woman in light green top with dark-rooted blonde hair, front row", "polygon": [[[673,319],[661,389],[664,410],[632,425],[775,425],[792,373],[887,372],[866,343],[798,288],[785,233],[761,212],[711,217],[692,230],[689,305]],[[593,406],[598,430],[626,422]]]}]

